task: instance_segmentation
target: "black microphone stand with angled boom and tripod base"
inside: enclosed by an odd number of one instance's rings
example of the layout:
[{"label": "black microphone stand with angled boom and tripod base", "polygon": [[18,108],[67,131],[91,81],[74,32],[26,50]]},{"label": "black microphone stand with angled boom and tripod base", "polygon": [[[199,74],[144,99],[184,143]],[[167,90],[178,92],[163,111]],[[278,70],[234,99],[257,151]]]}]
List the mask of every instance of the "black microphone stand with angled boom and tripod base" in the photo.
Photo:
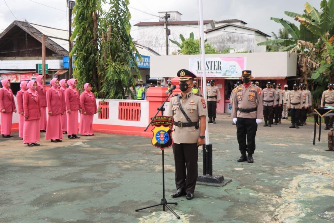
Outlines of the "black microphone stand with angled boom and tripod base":
[{"label": "black microphone stand with angled boom and tripod base", "polygon": [[[153,122],[154,118],[158,115],[158,113],[161,111],[161,114],[164,114],[165,108],[164,105],[166,103],[166,101],[168,100],[168,98],[172,95],[173,91],[171,91],[168,95],[168,97],[165,99],[165,101],[160,105],[159,108],[157,108],[157,113],[154,115],[154,117],[151,119],[150,123],[147,125],[147,127],[145,128],[145,132],[148,129],[148,127],[151,125],[151,123]],[[164,162],[164,150],[162,149],[162,199],[160,201],[160,204],[155,204],[155,205],[151,205],[145,208],[139,208],[136,209],[135,211],[140,211],[143,209],[147,209],[147,208],[152,208],[152,207],[156,207],[156,206],[163,206],[163,211],[165,211],[165,207],[168,208],[168,210],[170,210],[178,219],[180,219],[180,216],[178,216],[169,206],[168,204],[175,204],[177,205],[177,202],[167,202],[166,198],[165,198],[165,162]]]}]

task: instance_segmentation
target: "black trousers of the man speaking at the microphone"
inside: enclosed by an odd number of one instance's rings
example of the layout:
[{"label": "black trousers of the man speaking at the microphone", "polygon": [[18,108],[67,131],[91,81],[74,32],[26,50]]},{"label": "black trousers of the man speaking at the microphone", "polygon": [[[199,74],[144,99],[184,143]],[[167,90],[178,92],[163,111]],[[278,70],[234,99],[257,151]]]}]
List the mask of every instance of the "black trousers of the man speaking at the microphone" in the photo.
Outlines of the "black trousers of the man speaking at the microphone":
[{"label": "black trousers of the man speaking at the microphone", "polygon": [[175,162],[176,189],[185,189],[186,193],[194,193],[197,181],[197,143],[173,144]]}]

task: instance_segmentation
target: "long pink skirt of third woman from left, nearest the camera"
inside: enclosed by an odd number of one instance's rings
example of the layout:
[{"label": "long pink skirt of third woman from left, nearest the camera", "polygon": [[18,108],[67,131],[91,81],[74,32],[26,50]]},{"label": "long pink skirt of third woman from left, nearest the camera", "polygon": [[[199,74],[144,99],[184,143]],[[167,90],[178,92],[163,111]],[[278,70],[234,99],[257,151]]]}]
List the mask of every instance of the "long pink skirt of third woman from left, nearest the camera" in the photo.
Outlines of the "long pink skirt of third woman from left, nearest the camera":
[{"label": "long pink skirt of third woman from left, nearest the camera", "polygon": [[39,119],[24,121],[23,124],[23,144],[39,142],[40,132],[39,132]]}]

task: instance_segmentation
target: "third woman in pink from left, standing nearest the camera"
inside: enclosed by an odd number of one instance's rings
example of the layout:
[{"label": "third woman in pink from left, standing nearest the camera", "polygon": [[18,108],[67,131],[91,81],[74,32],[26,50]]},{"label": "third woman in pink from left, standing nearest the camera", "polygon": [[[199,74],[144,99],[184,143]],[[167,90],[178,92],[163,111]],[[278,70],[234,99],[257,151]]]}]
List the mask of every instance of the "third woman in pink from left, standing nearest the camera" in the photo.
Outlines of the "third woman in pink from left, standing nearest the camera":
[{"label": "third woman in pink from left, standing nearest the camera", "polygon": [[36,91],[37,82],[29,81],[28,90],[23,95],[23,110],[24,110],[24,124],[23,124],[23,144],[28,146],[39,145],[40,140],[40,125],[41,108],[39,105],[39,97]]}]

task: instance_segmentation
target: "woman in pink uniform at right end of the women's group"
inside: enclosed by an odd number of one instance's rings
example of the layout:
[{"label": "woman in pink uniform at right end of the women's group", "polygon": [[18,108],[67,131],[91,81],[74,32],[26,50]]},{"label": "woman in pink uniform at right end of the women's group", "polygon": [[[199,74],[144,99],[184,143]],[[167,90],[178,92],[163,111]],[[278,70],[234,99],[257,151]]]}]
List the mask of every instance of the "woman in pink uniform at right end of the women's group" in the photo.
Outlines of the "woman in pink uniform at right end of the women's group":
[{"label": "woman in pink uniform at right end of the women's group", "polygon": [[82,135],[91,136],[93,132],[93,117],[98,112],[94,94],[91,92],[91,84],[86,83],[85,91],[80,95],[81,113],[80,113],[80,131]]}]

